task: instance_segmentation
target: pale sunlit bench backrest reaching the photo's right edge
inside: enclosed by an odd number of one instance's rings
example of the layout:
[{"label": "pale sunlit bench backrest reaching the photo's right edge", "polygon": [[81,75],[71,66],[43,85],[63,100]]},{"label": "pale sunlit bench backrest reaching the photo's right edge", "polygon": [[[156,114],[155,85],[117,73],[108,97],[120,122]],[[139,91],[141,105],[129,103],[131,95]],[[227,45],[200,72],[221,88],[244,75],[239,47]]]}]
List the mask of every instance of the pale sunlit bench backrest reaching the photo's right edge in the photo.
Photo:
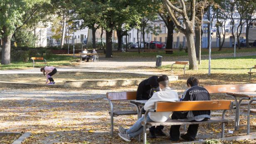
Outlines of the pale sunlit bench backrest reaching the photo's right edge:
[{"label": "pale sunlit bench backrest reaching the photo's right edge", "polygon": [[209,93],[251,92],[256,91],[256,84],[239,85],[204,85]]}]

